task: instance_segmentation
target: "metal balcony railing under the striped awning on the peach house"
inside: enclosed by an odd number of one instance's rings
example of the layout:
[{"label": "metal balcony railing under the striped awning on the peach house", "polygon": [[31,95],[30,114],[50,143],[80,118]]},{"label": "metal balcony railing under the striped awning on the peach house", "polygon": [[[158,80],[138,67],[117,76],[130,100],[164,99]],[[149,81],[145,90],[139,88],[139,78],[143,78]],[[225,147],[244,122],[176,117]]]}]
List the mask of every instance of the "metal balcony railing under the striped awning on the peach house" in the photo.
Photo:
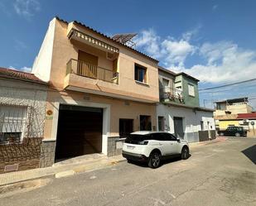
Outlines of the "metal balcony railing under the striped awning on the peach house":
[{"label": "metal balcony railing under the striped awning on the peach house", "polygon": [[66,64],[66,74],[77,74],[92,79],[118,84],[118,72],[91,65],[85,61],[71,59]]}]

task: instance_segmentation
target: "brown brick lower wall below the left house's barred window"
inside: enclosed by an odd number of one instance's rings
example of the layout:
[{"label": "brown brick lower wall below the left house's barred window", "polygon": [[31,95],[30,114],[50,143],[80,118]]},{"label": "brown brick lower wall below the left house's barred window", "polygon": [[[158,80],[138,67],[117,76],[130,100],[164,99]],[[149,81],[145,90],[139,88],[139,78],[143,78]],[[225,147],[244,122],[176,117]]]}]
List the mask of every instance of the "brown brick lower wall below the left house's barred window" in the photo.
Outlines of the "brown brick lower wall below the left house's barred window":
[{"label": "brown brick lower wall below the left house's barred window", "polygon": [[[27,137],[22,143],[0,145],[0,174],[15,170],[30,170],[39,167],[41,137]],[[11,170],[5,169],[12,167]]]}]

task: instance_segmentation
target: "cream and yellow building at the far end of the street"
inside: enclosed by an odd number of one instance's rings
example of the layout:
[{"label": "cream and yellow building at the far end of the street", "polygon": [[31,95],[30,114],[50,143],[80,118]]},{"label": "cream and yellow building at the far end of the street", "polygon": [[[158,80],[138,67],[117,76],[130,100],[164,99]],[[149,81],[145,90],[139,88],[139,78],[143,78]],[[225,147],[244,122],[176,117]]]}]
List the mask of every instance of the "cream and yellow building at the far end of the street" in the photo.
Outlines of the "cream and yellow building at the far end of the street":
[{"label": "cream and yellow building at the far end of the street", "polygon": [[252,113],[248,98],[231,98],[215,102],[215,126],[217,130],[225,130],[229,126],[240,126],[240,113]]}]

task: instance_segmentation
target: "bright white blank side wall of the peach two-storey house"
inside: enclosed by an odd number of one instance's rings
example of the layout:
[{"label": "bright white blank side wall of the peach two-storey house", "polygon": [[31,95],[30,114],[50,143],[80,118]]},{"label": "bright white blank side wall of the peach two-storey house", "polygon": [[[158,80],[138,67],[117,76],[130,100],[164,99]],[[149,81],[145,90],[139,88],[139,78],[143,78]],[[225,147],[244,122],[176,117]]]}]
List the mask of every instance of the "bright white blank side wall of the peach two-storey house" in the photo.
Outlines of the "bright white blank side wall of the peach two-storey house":
[{"label": "bright white blank side wall of the peach two-storey house", "polygon": [[39,79],[48,82],[51,74],[51,59],[53,50],[53,41],[55,34],[56,18],[51,20],[44,41],[41,44],[34,64],[32,67],[32,74],[35,74]]}]

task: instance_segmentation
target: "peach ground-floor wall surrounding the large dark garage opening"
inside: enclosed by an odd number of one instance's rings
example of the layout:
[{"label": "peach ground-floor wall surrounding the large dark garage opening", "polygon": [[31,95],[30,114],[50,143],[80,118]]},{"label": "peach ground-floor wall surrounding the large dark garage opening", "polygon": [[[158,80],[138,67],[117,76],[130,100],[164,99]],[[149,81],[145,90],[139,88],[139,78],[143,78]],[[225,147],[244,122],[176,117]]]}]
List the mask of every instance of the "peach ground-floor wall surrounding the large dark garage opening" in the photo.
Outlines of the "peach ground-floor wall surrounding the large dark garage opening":
[{"label": "peach ground-floor wall surrounding the large dark garage opening", "polygon": [[[86,100],[85,100],[86,97]],[[89,99],[89,100],[88,100]],[[152,129],[156,128],[156,106],[149,103],[138,103],[133,101],[125,101],[116,98],[107,98],[100,95],[80,92],[54,92],[48,93],[48,103],[46,103],[46,110],[53,111],[52,117],[46,117],[45,122],[45,139],[55,139],[56,135],[56,120],[58,119],[58,108],[56,103],[66,103],[77,106],[85,106],[86,104],[94,107],[94,104],[104,104],[110,109],[110,127],[109,137],[118,137],[119,135],[119,118],[133,119],[134,131],[139,130],[139,115],[148,115],[152,118]],[[127,105],[128,104],[128,105]]]}]

